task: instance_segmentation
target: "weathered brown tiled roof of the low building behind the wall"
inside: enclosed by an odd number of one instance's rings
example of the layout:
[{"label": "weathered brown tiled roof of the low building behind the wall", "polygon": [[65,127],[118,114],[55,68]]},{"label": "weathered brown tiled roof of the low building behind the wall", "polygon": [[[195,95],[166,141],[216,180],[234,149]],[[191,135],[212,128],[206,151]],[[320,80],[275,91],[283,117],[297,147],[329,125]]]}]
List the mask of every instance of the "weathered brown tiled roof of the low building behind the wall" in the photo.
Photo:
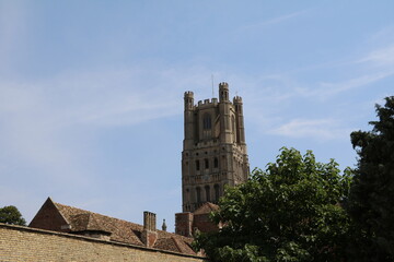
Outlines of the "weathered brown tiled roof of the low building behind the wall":
[{"label": "weathered brown tiled roof of the low building behind the wall", "polygon": [[[85,230],[111,233],[112,241],[143,246],[141,240],[142,225],[55,202],[54,204],[71,226],[73,233]],[[157,231],[158,240],[153,248],[196,255],[196,252],[190,248],[193,238],[163,230]]]}]

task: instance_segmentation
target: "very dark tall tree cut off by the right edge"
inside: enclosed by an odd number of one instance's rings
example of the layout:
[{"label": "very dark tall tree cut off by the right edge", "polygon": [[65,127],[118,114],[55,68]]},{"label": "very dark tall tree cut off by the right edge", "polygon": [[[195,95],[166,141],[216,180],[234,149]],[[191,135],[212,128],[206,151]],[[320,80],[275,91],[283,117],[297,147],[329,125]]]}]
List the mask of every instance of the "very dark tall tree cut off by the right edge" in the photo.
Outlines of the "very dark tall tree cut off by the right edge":
[{"label": "very dark tall tree cut off by the right edge", "polygon": [[347,210],[355,261],[394,261],[394,96],[376,105],[372,131],[351,133],[359,159]]}]

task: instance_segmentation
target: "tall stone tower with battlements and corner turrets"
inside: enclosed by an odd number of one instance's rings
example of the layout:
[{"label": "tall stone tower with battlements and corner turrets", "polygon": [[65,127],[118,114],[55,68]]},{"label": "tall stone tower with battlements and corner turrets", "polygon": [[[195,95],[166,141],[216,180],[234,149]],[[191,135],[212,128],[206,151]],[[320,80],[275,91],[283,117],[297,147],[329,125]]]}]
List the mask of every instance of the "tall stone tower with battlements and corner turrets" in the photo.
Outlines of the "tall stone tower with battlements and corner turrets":
[{"label": "tall stone tower with battlements and corner turrets", "polygon": [[206,202],[217,203],[225,184],[246,181],[246,153],[242,98],[229,100],[228,83],[219,84],[217,98],[194,104],[185,92],[185,139],[182,152],[183,212],[194,212]]}]

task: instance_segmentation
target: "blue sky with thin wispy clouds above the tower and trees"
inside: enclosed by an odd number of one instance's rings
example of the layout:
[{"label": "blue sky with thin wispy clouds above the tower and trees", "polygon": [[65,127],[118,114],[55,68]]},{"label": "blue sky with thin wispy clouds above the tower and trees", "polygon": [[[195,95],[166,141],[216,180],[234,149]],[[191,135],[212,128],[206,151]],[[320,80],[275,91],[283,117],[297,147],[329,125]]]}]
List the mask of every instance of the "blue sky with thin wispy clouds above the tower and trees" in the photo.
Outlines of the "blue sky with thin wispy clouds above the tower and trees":
[{"label": "blue sky with thin wispy clouds above the tower and trees", "polygon": [[251,167],[281,146],[354,166],[394,95],[393,1],[0,0],[0,206],[47,196],[169,229],[183,94],[243,97]]}]

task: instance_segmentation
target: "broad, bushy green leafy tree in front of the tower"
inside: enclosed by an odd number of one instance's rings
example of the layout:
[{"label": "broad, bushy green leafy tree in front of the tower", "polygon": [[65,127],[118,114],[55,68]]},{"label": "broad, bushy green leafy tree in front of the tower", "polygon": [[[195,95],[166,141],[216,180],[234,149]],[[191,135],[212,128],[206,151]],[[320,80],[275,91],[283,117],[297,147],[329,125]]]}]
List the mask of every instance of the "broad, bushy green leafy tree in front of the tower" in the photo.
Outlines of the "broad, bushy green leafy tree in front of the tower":
[{"label": "broad, bushy green leafy tree in front of the tower", "polygon": [[341,207],[351,176],[337,164],[315,162],[281,148],[276,163],[227,188],[212,213],[218,233],[199,234],[194,243],[212,261],[340,261],[349,218]]}]

